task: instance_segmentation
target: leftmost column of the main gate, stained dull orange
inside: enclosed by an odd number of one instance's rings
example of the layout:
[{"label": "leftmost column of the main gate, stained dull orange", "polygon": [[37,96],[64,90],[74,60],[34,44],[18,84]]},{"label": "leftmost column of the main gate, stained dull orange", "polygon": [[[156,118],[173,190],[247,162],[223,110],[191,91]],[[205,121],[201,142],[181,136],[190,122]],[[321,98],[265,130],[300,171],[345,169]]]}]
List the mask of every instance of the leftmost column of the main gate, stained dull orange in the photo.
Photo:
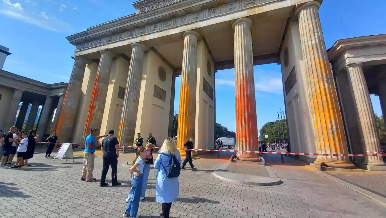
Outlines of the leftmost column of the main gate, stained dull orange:
[{"label": "leftmost column of the main gate, stained dull orange", "polygon": [[68,82],[63,106],[59,114],[56,134],[61,142],[70,142],[74,121],[78,112],[79,97],[82,93],[83,76],[85,75],[86,59],[74,57],[74,67]]}]

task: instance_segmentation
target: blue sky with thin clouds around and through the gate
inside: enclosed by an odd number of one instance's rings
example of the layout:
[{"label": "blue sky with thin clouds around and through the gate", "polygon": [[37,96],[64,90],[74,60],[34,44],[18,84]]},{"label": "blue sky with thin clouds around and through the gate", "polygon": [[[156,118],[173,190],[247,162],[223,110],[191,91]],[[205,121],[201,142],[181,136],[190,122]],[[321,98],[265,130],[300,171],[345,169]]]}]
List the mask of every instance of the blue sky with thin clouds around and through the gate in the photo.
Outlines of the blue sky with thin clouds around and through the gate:
[{"label": "blue sky with thin clouds around and through the gate", "polygon": [[[0,44],[10,48],[4,70],[45,83],[68,82],[74,46],[66,36],[135,12],[128,0],[0,0]],[[377,7],[374,7],[377,5]],[[337,39],[386,33],[385,0],[324,0],[319,10],[327,48]],[[255,66],[257,125],[284,110],[278,64]],[[216,73],[216,122],[235,130],[234,69]],[[377,96],[374,111],[381,115]],[[176,81],[178,112],[179,79]]]}]

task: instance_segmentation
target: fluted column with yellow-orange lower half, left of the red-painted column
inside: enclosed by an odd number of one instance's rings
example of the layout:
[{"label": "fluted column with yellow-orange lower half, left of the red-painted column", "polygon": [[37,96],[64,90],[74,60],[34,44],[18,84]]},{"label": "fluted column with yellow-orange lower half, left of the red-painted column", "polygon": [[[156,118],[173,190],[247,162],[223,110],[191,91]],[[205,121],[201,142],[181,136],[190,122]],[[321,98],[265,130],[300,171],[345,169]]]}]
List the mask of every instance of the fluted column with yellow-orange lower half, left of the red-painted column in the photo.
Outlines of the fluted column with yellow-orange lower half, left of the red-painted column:
[{"label": "fluted column with yellow-orange lower half, left of the red-painted column", "polygon": [[[195,136],[196,83],[197,83],[197,38],[198,33],[188,30],[183,34],[181,90],[179,95],[177,148],[183,149],[189,137]],[[181,156],[185,152],[180,150]]]}]

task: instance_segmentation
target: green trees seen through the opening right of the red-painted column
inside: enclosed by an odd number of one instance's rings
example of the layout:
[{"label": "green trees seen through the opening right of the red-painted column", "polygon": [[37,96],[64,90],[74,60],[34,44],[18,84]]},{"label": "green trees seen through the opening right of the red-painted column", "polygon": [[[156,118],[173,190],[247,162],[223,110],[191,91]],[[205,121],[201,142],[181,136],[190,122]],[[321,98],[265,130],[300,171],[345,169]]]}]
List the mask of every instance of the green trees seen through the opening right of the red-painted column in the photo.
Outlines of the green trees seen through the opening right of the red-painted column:
[{"label": "green trees seen through the opening right of the red-painted column", "polygon": [[[283,142],[283,130],[284,129],[284,141],[286,141],[287,135],[287,123],[286,120],[276,120],[273,122],[268,122],[260,129],[260,142],[273,143],[277,142],[280,138],[280,141]],[[265,135],[268,135],[268,139],[265,139]]]}]

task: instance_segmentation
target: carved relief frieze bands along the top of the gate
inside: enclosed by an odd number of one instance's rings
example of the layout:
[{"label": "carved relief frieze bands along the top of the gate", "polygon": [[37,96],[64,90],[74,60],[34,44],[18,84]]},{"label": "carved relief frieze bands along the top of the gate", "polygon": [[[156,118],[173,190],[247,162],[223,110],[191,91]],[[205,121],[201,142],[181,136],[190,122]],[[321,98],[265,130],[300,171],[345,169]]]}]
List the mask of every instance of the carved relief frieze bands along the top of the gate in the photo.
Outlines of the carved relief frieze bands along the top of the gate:
[{"label": "carved relief frieze bands along the top of the gate", "polygon": [[[161,2],[154,3],[152,5],[147,5],[146,7],[141,8],[141,10],[149,11],[150,8],[159,8],[164,7],[166,5],[180,2],[182,0],[164,0]],[[174,17],[168,20],[163,19],[152,19],[149,20],[145,27],[136,27],[135,24],[130,24],[133,29],[127,30],[125,32],[120,32],[118,34],[101,37],[100,39],[95,39],[93,41],[85,42],[82,44],[78,44],[76,46],[76,51],[80,51],[83,49],[88,49],[90,47],[100,46],[107,43],[112,43],[128,38],[138,37],[141,35],[162,31],[165,29],[178,27],[180,25],[185,25],[192,22],[198,22],[200,20],[205,20],[210,17],[220,16],[228,13],[236,12],[237,10],[242,10],[244,8],[262,6],[271,2],[278,2],[283,0],[237,0],[235,2],[227,2],[222,5],[218,5],[217,7],[206,8],[201,7],[201,11],[199,12],[186,12],[186,15]],[[154,10],[152,9],[152,10]],[[141,11],[142,13],[142,11]]]}]

